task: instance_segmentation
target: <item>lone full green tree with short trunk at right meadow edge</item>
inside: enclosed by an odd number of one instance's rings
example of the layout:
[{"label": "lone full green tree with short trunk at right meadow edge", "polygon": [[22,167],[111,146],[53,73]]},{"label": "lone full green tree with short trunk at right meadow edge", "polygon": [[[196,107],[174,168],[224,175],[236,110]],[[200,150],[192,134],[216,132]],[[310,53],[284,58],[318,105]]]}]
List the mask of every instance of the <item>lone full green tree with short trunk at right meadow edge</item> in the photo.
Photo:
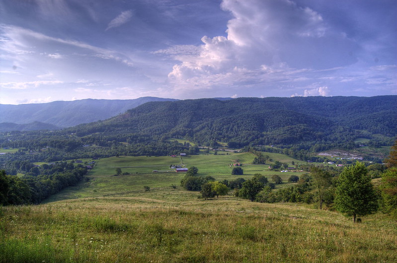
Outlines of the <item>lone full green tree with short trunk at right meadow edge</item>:
[{"label": "lone full green tree with short trunk at right meadow edge", "polygon": [[335,191],[335,207],[338,211],[356,217],[367,215],[378,209],[378,199],[371,177],[363,163],[345,167],[339,175]]}]

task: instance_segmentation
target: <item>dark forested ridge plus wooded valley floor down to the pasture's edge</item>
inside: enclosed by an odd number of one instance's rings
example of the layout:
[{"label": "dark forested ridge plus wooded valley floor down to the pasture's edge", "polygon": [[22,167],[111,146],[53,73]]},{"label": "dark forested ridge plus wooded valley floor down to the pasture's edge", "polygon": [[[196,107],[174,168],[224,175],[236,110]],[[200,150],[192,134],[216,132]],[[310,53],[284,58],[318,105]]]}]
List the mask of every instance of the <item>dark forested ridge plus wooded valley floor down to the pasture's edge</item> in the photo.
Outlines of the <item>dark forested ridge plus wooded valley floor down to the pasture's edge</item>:
[{"label": "dark forested ridge plus wooded valley floor down to the pasture's edge", "polygon": [[[197,146],[227,143],[309,160],[328,149],[391,146],[397,134],[397,96],[198,99],[148,102],[104,121],[54,132],[0,133],[0,146],[23,148],[0,156],[56,161],[116,155],[195,154]],[[184,145],[170,138],[194,142]],[[275,147],[270,147],[270,146]],[[46,150],[43,150],[46,149]],[[375,160],[373,154],[363,154]],[[382,162],[382,155],[377,162]]]}]

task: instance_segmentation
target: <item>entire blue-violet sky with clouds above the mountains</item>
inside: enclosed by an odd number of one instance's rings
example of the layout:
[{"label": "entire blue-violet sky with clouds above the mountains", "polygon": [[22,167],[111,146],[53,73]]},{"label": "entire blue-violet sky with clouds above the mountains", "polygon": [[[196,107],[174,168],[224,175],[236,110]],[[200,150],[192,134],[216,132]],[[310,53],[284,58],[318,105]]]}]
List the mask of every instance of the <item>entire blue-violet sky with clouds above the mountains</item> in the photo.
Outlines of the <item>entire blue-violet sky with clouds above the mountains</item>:
[{"label": "entire blue-violet sky with clouds above the mountains", "polygon": [[378,95],[396,0],[0,0],[0,104]]}]

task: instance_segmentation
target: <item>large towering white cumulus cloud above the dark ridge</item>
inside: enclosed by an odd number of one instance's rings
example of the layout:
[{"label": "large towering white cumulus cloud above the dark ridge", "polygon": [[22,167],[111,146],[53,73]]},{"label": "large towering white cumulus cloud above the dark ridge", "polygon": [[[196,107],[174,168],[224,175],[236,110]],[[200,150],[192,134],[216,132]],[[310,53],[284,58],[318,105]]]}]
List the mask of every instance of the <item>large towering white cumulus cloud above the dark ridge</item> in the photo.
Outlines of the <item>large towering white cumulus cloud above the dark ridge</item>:
[{"label": "large towering white cumulus cloud above the dark ridge", "polygon": [[[234,17],[226,36],[202,37],[197,55],[173,54],[180,63],[172,67],[168,79],[176,89],[308,82],[303,71],[356,61],[343,54],[354,43],[330,29],[321,14],[307,6],[290,0],[223,0],[221,7]],[[326,89],[317,92],[327,94]]]}]

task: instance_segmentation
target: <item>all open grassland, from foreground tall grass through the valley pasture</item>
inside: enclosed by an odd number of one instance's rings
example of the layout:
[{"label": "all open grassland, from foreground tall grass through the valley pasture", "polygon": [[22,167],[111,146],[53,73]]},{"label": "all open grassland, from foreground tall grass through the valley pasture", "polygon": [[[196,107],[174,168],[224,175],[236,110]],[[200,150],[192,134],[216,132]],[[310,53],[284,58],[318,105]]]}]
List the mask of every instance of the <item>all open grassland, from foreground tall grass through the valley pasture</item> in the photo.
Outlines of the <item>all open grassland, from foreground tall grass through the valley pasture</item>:
[{"label": "all open grassland, from foreground tall grass through the valley pasture", "polygon": [[[217,180],[261,173],[287,181],[293,174],[248,165],[253,157],[198,155],[182,162]],[[231,175],[228,164],[236,161],[246,164],[243,176]],[[256,203],[231,193],[199,199],[198,192],[179,187],[184,174],[152,173],[179,162],[100,159],[89,181],[44,204],[0,207],[0,263],[397,261],[396,218],[377,213],[354,224],[338,212],[306,204]],[[130,175],[113,176],[117,167]]]}]

